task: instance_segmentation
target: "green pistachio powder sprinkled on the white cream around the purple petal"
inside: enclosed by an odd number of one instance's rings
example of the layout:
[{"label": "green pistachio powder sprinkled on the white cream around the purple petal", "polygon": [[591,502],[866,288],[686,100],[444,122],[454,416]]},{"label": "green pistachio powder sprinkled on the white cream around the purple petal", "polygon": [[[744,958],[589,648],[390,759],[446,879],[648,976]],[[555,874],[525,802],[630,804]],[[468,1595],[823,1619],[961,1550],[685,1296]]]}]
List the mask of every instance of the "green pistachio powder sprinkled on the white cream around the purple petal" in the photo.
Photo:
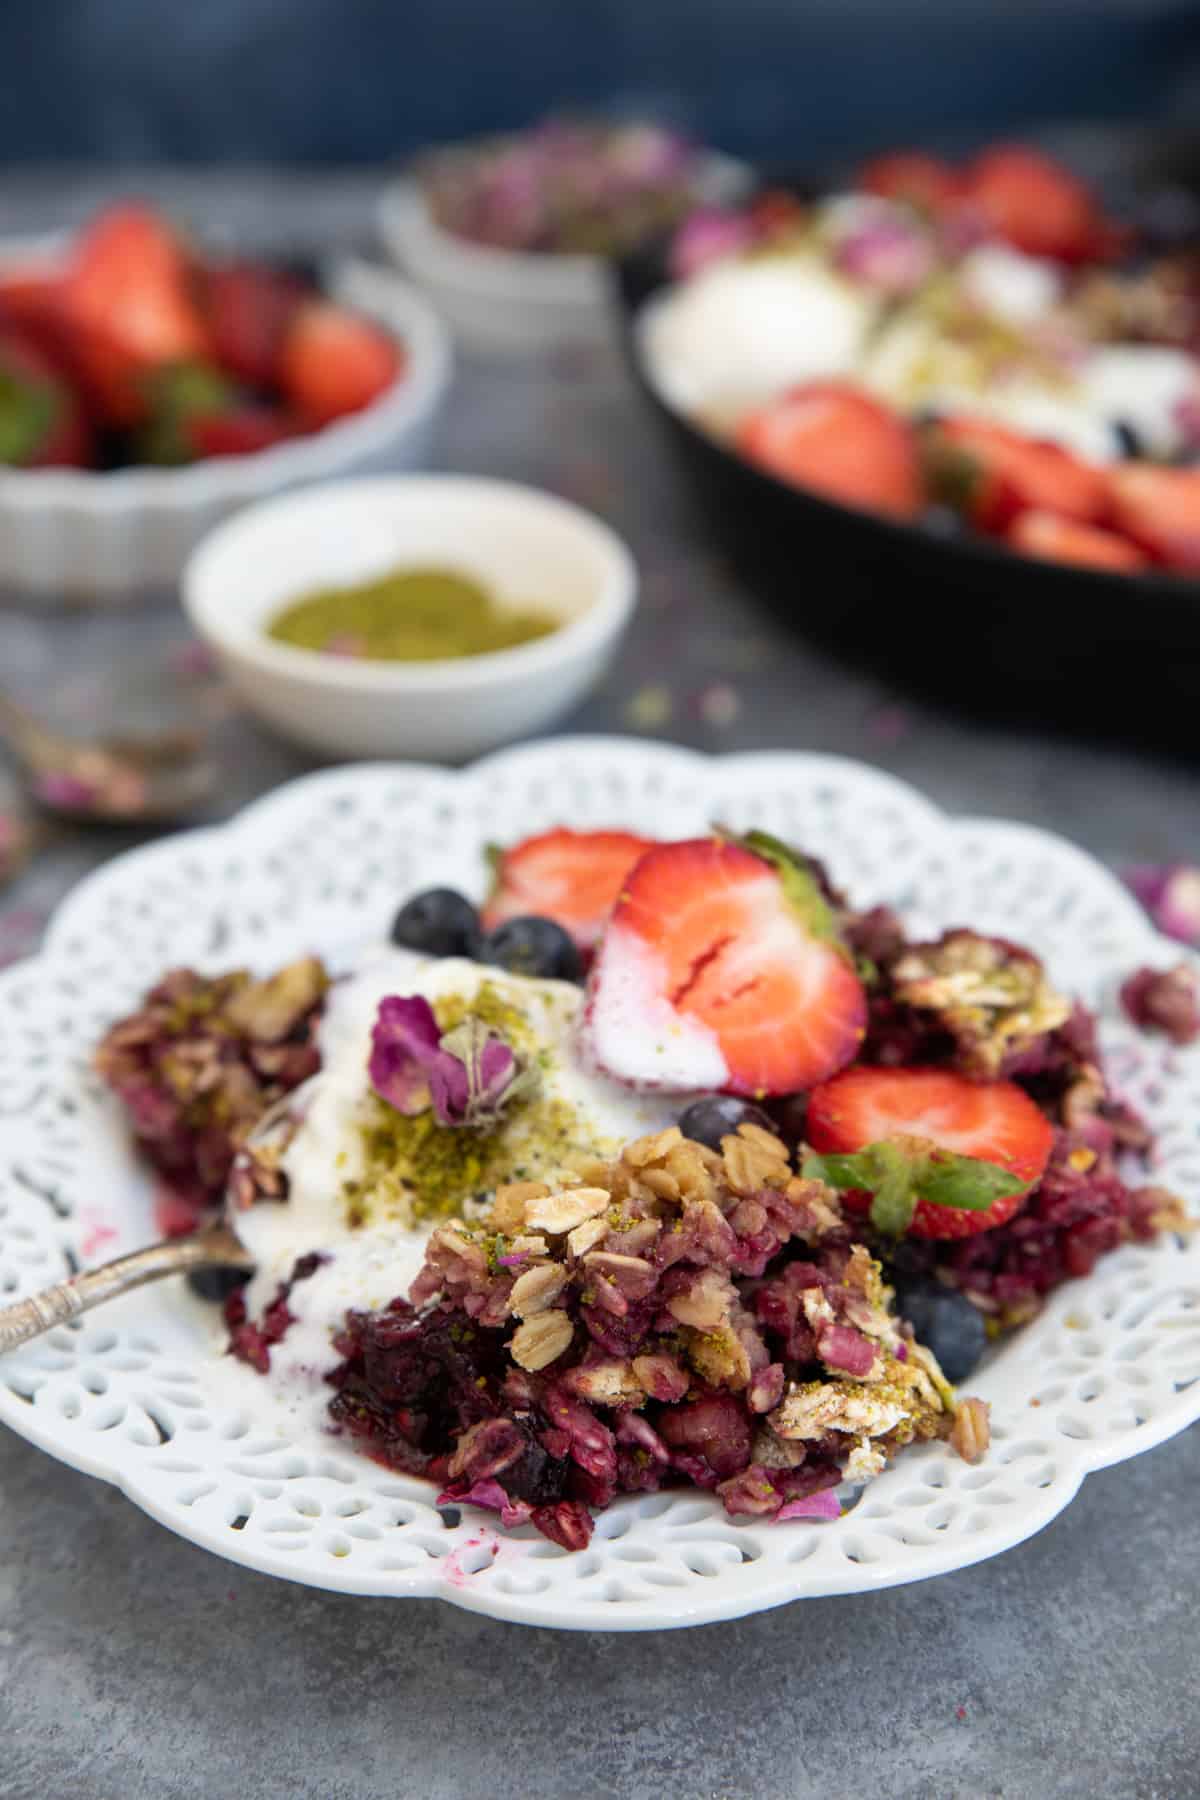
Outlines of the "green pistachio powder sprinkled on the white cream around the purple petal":
[{"label": "green pistachio powder sprinkled on the white cream around the purple petal", "polygon": [[[520,1057],[545,1066],[549,1053],[538,1048],[527,1013],[491,983],[470,1004],[459,995],[437,999],[434,1012],[443,1031],[462,1024],[470,1012],[500,1031]],[[345,1220],[353,1228],[455,1213],[462,1201],[491,1193],[506,1181],[538,1179],[615,1150],[572,1105],[538,1091],[516,1102],[491,1130],[441,1125],[434,1112],[408,1118],[372,1094],[362,1112],[360,1141],[362,1174],[342,1183]]]}]

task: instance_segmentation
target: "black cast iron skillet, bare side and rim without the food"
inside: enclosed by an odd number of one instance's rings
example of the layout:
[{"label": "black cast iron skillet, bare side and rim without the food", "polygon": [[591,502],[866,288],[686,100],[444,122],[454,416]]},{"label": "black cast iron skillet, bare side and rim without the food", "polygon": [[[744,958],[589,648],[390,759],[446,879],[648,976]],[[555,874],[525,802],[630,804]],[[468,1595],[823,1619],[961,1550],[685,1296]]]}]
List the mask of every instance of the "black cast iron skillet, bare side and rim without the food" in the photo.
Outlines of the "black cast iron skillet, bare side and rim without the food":
[{"label": "black cast iron skillet, bare side and rim without the food", "polygon": [[642,367],[637,315],[669,284],[667,245],[626,259],[615,281],[633,380],[703,527],[779,617],[973,716],[1200,754],[1200,581],[1016,556],[754,468],[667,407]]}]

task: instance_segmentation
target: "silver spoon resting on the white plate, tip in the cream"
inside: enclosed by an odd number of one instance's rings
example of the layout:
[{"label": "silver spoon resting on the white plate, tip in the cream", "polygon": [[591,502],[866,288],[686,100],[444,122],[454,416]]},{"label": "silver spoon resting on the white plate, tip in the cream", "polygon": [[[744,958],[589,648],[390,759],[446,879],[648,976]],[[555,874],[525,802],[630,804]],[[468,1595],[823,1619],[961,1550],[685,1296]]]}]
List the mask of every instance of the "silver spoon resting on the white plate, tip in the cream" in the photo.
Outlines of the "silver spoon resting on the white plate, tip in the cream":
[{"label": "silver spoon resting on the white plate, tip in the cream", "polygon": [[106,1300],[128,1294],[146,1282],[158,1282],[164,1274],[185,1274],[189,1269],[246,1269],[254,1271],[254,1256],[237,1238],[237,1213],[254,1204],[279,1204],[255,1197],[252,1183],[246,1181],[254,1152],[268,1145],[282,1148],[293,1136],[304,1116],[318,1076],[300,1082],[290,1094],[268,1107],[257,1121],[243,1150],[234,1161],[234,1168],[225,1188],[225,1206],[221,1219],[191,1231],[187,1237],[166,1238],[162,1244],[149,1244],[146,1249],[115,1256],[99,1269],[85,1269],[43,1287],[40,1294],[14,1300],[0,1307],[0,1354],[16,1350],[18,1345],[40,1337],[54,1325],[67,1325],[81,1312],[101,1307]]}]

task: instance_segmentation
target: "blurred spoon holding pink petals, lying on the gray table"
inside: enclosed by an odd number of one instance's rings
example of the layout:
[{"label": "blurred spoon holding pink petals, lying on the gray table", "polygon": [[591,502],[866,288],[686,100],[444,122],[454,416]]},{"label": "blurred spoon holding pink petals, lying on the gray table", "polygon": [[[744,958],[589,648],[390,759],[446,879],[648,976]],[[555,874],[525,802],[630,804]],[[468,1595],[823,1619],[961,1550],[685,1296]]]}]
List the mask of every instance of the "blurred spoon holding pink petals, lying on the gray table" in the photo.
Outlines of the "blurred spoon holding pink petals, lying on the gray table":
[{"label": "blurred spoon holding pink petals, lying on the gray table", "polygon": [[38,805],[67,819],[178,819],[207,797],[216,776],[194,731],[88,743],[43,725],[4,691],[0,740],[23,767]]}]

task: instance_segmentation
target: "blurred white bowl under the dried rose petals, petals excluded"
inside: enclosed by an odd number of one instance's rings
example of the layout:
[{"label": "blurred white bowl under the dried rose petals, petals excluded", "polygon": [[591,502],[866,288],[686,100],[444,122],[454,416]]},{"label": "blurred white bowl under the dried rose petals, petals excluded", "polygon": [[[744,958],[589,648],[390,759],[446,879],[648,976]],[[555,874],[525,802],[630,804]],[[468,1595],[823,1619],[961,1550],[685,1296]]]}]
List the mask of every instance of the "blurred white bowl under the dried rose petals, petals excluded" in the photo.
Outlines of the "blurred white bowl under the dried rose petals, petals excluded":
[{"label": "blurred white bowl under the dried rose petals, petals excluded", "polygon": [[[750,171],[732,157],[703,158],[703,203],[736,200]],[[378,229],[399,266],[419,283],[470,349],[522,355],[612,338],[610,266],[599,256],[497,250],[443,230],[416,176],[380,196]]]}]

